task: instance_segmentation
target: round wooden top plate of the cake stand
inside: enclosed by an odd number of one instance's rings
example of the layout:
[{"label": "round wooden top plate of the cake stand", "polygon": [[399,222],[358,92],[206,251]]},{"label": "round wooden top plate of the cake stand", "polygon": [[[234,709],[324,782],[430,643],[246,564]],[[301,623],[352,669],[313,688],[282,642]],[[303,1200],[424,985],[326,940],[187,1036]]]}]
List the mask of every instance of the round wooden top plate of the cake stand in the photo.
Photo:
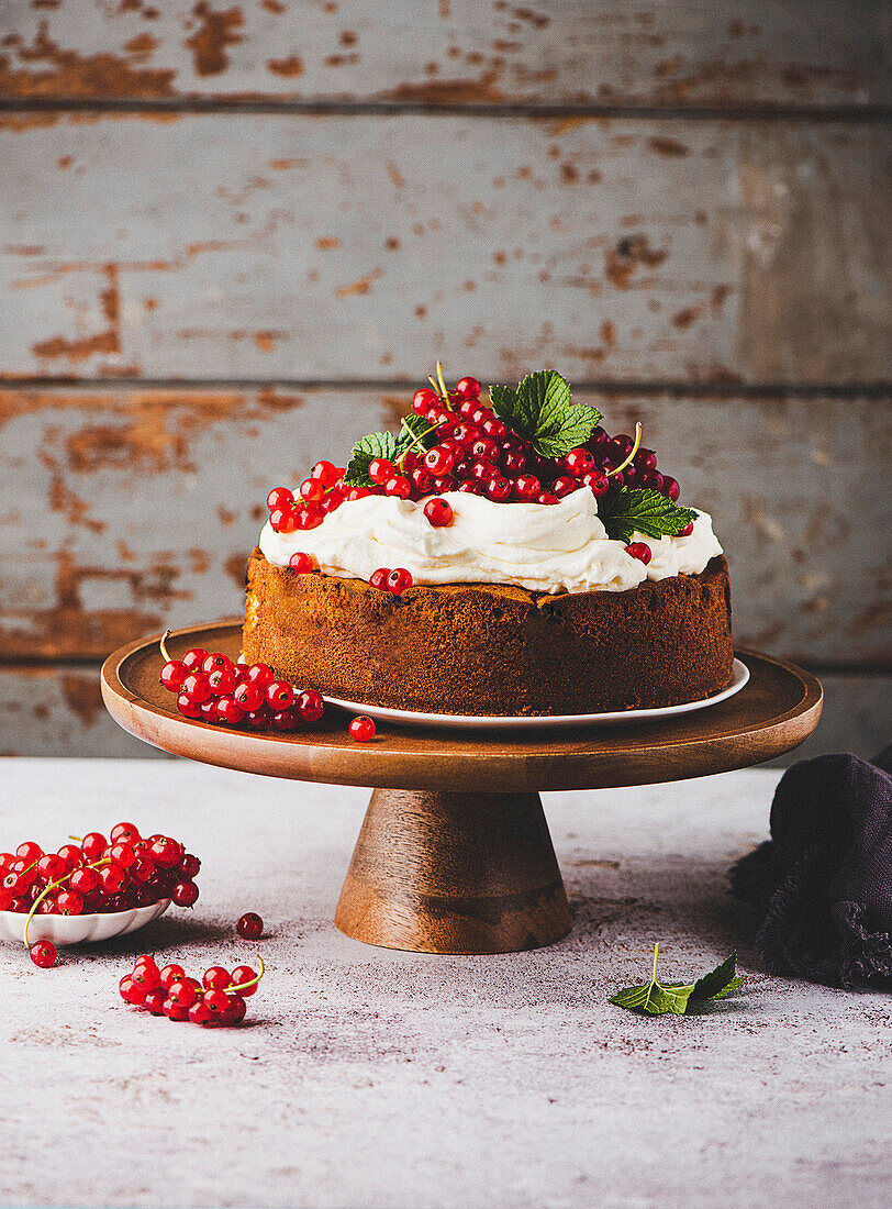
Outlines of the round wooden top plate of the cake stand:
[{"label": "round wooden top plate of the cake stand", "polygon": [[[821,717],[819,682],[793,664],[740,649],[749,681],[708,708],[645,725],[499,731],[388,727],[367,744],[347,731],[349,713],[329,706],[294,734],[251,733],[184,718],[161,687],[161,635],[131,642],[103,664],[106,708],[129,734],[175,756],[263,776],[375,788],[456,793],[609,788],[678,781],[748,768],[792,751]],[[241,621],[178,630],[174,659],[195,646],[237,658]]]}]

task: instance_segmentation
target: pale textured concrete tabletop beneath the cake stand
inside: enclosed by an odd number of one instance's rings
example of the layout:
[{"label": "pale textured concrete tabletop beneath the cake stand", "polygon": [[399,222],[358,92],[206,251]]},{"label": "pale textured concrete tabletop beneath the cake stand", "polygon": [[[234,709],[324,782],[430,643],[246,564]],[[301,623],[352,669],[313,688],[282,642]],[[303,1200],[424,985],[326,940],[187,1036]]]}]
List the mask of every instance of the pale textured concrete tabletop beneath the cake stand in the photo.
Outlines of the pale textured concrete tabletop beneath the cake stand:
[{"label": "pale textured concrete tabletop beneath the cake stand", "polygon": [[[0,1203],[887,1207],[892,999],[760,973],[729,863],[774,771],[545,796],[575,926],[549,949],[366,948],[331,918],[366,791],[185,762],[0,762],[0,849],[127,818],[203,860],[195,913],[40,971],[0,943]],[[247,1026],[117,997],[133,955],[268,977]],[[699,1017],[607,1002],[736,944],[741,997]],[[256,947],[255,947],[256,948]]]}]

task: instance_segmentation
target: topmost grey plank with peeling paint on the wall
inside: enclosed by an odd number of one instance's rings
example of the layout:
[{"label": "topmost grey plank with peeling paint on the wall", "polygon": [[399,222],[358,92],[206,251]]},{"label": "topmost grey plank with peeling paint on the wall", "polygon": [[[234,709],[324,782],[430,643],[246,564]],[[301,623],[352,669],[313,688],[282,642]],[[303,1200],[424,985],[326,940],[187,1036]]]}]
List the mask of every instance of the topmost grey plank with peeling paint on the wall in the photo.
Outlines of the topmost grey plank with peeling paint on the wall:
[{"label": "topmost grey plank with peeling paint on the wall", "polygon": [[888,100],[882,6],[716,0],[11,0],[33,100],[839,105]]}]

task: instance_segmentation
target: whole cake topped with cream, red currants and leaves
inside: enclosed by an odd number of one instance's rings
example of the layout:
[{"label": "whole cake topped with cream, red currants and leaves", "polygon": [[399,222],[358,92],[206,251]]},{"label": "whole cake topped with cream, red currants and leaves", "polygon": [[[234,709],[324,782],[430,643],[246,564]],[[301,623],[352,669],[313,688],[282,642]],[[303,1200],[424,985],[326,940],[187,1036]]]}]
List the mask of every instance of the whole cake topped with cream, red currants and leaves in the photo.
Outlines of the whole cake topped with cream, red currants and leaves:
[{"label": "whole cake topped with cream, red currants and leaves", "polygon": [[360,705],[548,716],[677,705],[732,675],[711,517],[554,371],[416,392],[274,488],[248,562],[243,650]]}]

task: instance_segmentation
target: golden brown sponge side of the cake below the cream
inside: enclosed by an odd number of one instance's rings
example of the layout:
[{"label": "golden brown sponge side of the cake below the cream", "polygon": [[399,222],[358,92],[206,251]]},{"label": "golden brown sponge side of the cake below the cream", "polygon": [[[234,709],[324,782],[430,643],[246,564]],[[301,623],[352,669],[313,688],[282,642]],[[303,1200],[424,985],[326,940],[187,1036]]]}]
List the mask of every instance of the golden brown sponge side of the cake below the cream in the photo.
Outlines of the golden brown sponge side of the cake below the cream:
[{"label": "golden brown sponge side of the cake below the cream", "polygon": [[625,592],[410,588],[297,575],[255,548],[244,655],[329,696],[431,713],[550,715],[677,705],[731,681],[723,556]]}]

